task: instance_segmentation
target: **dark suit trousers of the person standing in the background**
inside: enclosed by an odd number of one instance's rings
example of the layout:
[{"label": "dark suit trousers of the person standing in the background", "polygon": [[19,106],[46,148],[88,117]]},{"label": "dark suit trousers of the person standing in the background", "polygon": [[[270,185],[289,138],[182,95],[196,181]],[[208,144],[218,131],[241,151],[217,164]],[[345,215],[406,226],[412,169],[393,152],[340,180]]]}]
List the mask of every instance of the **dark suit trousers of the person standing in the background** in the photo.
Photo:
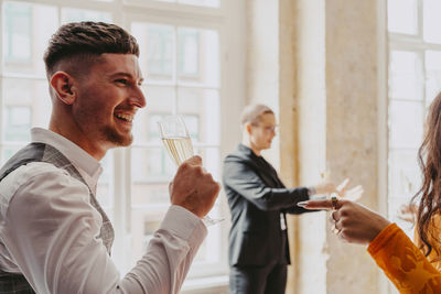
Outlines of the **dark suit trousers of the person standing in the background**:
[{"label": "dark suit trousers of the person standing in the background", "polygon": [[232,294],[284,294],[287,264],[230,266]]}]

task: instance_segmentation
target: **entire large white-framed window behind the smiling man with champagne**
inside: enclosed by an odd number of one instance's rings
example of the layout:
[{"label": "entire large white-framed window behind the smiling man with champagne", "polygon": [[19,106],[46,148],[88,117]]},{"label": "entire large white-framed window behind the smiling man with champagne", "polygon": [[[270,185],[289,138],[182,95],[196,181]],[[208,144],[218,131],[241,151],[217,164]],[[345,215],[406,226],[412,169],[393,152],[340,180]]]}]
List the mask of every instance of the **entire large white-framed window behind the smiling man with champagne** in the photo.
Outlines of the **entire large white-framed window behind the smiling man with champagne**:
[{"label": "entire large white-framed window behind the smiling man with champagne", "polygon": [[[227,2],[236,4],[220,0],[45,0],[44,4],[0,0],[1,163],[29,142],[31,127],[49,126],[51,100],[42,57],[47,40],[62,23],[115,22],[140,44],[148,106],[133,123],[133,144],[108,152],[103,160],[105,172],[97,193],[115,225],[112,257],[121,273],[143,254],[170,205],[168,183],[175,166],[159,140],[158,120],[182,115],[195,152],[219,181],[223,144],[228,140],[222,138],[227,133],[222,128],[238,129],[222,109],[241,105],[226,95],[232,91],[226,86],[229,69],[220,62],[228,34],[234,33],[225,29]],[[225,217],[225,205],[220,196],[211,215]],[[190,279],[227,274],[227,227],[224,221],[208,228]]]}]

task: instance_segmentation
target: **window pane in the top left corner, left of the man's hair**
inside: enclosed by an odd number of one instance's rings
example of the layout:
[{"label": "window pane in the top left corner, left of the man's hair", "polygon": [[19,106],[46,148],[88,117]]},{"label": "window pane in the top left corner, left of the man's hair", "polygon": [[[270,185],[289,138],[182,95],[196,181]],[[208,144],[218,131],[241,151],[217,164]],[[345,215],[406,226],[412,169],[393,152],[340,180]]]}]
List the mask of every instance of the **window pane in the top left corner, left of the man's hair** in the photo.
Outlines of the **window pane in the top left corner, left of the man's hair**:
[{"label": "window pane in the top left corner, left of the man's hair", "polygon": [[2,19],[4,72],[44,76],[43,53],[58,26],[56,8],[4,2]]}]

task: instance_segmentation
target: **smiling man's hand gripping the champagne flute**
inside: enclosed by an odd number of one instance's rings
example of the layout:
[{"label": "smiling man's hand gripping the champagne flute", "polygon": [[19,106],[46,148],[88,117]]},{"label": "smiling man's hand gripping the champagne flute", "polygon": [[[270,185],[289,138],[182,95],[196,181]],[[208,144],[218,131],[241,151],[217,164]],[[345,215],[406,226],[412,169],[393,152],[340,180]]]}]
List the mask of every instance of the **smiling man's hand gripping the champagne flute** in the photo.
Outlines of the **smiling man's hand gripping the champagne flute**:
[{"label": "smiling man's hand gripping the champagne flute", "polygon": [[212,174],[202,167],[202,159],[193,156],[178,168],[169,192],[171,203],[203,218],[212,209],[220,190]]}]

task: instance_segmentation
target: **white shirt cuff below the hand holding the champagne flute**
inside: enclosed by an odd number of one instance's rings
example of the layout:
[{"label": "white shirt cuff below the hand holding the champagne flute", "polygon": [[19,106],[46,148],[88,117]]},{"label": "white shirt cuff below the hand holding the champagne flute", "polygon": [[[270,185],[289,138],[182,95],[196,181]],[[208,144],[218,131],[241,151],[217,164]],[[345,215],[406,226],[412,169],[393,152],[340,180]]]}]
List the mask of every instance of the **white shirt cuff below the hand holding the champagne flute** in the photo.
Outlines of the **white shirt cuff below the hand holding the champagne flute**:
[{"label": "white shirt cuff below the hand holding the champagne flute", "polygon": [[202,219],[178,205],[170,206],[160,229],[171,231],[185,240],[194,235],[195,230],[198,230],[197,235],[202,235],[203,238],[207,235],[207,229]]}]

